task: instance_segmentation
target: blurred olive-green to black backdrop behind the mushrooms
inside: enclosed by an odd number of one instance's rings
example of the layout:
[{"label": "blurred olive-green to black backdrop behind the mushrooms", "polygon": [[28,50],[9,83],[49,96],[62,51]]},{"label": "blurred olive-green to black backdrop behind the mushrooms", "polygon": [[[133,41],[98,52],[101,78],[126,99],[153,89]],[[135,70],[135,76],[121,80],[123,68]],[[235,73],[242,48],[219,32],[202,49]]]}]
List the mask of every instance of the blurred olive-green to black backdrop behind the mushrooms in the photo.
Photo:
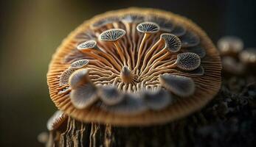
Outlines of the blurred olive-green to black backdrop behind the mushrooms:
[{"label": "blurred olive-green to black backdrop behind the mushrooms", "polygon": [[0,146],[42,146],[37,135],[56,108],[46,72],[52,54],[84,20],[108,10],[153,7],[192,19],[212,38],[236,35],[256,46],[251,0],[68,1],[11,0],[0,4]]}]

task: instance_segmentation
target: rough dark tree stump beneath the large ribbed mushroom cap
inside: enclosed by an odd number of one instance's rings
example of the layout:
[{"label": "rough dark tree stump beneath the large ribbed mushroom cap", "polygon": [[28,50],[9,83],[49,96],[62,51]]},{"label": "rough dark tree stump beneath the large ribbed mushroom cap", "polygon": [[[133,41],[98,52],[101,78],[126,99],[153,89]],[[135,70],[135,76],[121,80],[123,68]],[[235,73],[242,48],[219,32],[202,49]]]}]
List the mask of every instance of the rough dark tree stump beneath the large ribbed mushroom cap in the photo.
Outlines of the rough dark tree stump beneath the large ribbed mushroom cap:
[{"label": "rough dark tree stump beneath the large ribbed mushroom cap", "polygon": [[117,127],[69,118],[46,146],[254,146],[255,81],[232,77],[218,96],[187,118],[150,127]]}]

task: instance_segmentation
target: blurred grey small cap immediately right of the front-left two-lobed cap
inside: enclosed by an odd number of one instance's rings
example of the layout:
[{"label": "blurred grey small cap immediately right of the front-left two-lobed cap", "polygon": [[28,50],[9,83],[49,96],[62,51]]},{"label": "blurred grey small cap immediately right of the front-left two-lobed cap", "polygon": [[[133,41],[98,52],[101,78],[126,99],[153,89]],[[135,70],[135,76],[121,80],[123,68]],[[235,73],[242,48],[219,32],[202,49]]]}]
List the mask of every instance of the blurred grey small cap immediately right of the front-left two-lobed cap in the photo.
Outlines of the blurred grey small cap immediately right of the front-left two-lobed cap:
[{"label": "blurred grey small cap immediately right of the front-left two-lobed cap", "polygon": [[98,91],[100,99],[106,105],[114,105],[120,103],[124,96],[117,90],[117,87],[114,86],[103,86]]}]

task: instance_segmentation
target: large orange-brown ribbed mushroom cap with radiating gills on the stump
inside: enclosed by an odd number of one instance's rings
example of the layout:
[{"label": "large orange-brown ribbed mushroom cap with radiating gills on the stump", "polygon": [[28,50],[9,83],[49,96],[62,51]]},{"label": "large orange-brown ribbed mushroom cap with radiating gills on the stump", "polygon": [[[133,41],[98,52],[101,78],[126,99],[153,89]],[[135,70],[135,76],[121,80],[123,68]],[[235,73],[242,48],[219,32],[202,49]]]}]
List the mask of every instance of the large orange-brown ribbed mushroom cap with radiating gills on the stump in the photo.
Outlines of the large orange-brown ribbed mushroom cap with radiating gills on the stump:
[{"label": "large orange-brown ribbed mushroom cap with radiating gills on the stump", "polygon": [[[166,32],[161,29],[160,24],[156,23],[151,24],[152,26],[149,27],[151,29],[148,29],[145,24],[139,24],[137,21],[131,22],[131,25],[114,21],[114,24],[100,26],[97,29],[91,28],[92,24],[101,19],[122,18],[128,14],[138,14],[147,18],[152,12],[154,15],[170,20],[173,23],[173,29]],[[127,28],[129,33],[125,34]],[[93,54],[81,54],[77,51],[77,43],[91,40],[88,37],[80,37],[85,32],[91,32],[90,36],[95,36],[100,51],[92,52]],[[147,32],[149,32],[147,37],[144,37]],[[160,40],[163,33],[179,37],[181,49],[177,52],[165,50],[165,41]],[[187,33],[190,34],[187,35]],[[118,43],[115,43],[115,40],[118,40]],[[177,67],[178,55],[190,52],[190,49],[197,47],[201,49],[190,53],[198,54],[198,56],[195,55],[197,62],[193,60],[193,64],[191,62],[181,64],[193,65],[193,68],[189,67],[193,70],[184,71],[188,69],[187,66],[184,69],[181,69],[181,66]],[[201,57],[199,53],[204,56]],[[60,75],[77,60],[89,60],[89,64],[75,69],[71,75],[67,76],[70,79],[68,85],[60,86]],[[132,82],[124,82],[121,78],[120,73],[125,66],[131,71],[125,73],[133,74]],[[77,74],[77,70],[83,70],[83,72],[80,71],[77,81],[71,80]],[[176,75],[184,77],[185,80],[176,78],[178,82],[176,81],[176,85],[173,85],[170,82],[173,79],[165,75]],[[187,89],[182,92],[183,87],[179,85],[181,82],[190,87],[186,87]],[[221,59],[210,38],[189,19],[162,10],[129,8],[97,15],[75,29],[52,57],[47,73],[47,83],[56,107],[79,121],[109,123],[116,126],[148,126],[174,121],[204,107],[218,93],[221,86]],[[194,86],[191,83],[194,83]],[[70,90],[59,93],[67,86]],[[111,101],[113,103],[109,104],[108,100],[108,102],[105,101],[100,91],[108,86],[117,87],[117,90],[122,93],[120,101]],[[112,94],[109,93],[109,96]],[[160,95],[161,98],[156,99],[156,96]],[[83,107],[75,104],[75,98],[83,100]]]}]

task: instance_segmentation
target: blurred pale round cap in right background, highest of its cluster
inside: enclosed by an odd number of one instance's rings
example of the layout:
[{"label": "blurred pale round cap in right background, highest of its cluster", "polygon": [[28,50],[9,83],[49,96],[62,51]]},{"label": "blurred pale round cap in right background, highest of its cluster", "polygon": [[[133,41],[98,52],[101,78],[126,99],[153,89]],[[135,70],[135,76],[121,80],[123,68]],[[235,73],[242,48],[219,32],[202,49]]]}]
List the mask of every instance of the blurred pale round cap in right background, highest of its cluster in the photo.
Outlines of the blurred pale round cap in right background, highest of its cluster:
[{"label": "blurred pale round cap in right background, highest of its cluster", "polygon": [[239,37],[221,37],[217,43],[221,55],[236,55],[243,50],[243,41]]}]

